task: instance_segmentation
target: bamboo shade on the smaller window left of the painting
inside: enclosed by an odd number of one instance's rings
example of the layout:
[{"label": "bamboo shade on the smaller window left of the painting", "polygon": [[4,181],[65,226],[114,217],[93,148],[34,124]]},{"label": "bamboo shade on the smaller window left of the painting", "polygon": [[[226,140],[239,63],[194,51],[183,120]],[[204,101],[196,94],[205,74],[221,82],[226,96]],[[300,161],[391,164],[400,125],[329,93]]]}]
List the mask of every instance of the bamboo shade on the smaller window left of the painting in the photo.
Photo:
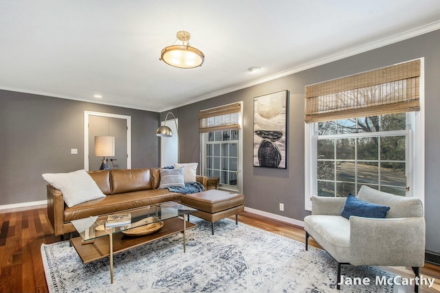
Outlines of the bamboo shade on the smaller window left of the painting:
[{"label": "bamboo shade on the smaller window left of the painting", "polygon": [[241,104],[234,103],[199,112],[199,132],[240,129]]}]

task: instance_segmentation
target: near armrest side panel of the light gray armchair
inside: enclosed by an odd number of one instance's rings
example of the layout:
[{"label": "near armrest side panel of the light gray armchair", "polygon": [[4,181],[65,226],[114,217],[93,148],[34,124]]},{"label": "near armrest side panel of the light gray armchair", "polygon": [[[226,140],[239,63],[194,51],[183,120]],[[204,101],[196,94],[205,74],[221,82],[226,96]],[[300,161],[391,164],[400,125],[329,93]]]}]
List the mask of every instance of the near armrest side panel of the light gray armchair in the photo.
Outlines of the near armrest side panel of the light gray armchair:
[{"label": "near armrest side panel of the light gray armchair", "polygon": [[350,263],[412,266],[425,261],[425,219],[350,217]]}]

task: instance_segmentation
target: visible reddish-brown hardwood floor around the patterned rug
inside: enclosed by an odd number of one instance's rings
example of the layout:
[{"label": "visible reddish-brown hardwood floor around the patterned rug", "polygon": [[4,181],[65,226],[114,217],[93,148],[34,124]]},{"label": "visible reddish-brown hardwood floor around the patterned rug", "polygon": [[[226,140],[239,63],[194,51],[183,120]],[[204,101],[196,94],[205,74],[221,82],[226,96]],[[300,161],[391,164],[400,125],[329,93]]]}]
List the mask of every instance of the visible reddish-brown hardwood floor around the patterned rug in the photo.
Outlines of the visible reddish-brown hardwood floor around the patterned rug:
[{"label": "visible reddish-brown hardwood floor around the patterned rug", "polygon": [[[234,217],[232,217],[234,219]],[[302,227],[243,212],[239,222],[304,242]],[[41,260],[41,244],[60,241],[47,219],[46,207],[10,209],[0,211],[0,292],[48,292]],[[309,244],[319,247],[313,239]],[[384,267],[402,277],[413,277],[407,268]],[[433,288],[423,286],[419,292],[440,292],[440,267],[426,265],[421,268],[424,277],[435,278]],[[412,286],[399,286],[399,293],[413,292]]]}]

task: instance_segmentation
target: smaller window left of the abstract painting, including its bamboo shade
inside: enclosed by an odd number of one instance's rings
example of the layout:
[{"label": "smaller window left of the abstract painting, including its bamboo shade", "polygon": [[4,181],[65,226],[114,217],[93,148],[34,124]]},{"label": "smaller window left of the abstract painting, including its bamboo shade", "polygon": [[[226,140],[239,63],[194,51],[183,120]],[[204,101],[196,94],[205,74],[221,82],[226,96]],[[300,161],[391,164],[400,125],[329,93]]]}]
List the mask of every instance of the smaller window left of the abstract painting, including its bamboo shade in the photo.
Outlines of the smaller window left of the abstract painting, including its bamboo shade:
[{"label": "smaller window left of the abstract painting, including its bamboo shade", "polygon": [[202,174],[241,192],[241,103],[202,110],[199,121]]}]

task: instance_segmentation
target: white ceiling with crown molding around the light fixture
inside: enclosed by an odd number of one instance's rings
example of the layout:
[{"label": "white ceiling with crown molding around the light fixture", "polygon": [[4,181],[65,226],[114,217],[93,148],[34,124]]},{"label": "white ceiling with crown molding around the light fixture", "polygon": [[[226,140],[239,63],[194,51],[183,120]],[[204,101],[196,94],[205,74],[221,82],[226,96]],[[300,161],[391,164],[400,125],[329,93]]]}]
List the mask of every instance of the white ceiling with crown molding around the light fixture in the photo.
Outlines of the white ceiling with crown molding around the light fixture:
[{"label": "white ceiling with crown molding around the light fixture", "polygon": [[[0,89],[162,112],[439,28],[439,0],[0,0]],[[159,61],[179,30],[201,67]]]}]

